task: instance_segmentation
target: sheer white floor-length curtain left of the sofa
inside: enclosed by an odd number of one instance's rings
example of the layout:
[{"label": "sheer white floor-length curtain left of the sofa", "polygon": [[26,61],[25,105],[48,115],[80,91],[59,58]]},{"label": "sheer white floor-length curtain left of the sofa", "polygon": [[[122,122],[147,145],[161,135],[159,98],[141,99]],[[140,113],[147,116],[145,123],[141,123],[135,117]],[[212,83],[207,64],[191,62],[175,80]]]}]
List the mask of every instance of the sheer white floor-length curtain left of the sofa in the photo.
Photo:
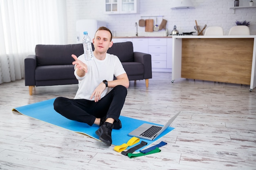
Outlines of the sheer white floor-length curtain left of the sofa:
[{"label": "sheer white floor-length curtain left of the sofa", "polygon": [[66,44],[65,0],[0,0],[0,84],[24,78],[36,44]]}]

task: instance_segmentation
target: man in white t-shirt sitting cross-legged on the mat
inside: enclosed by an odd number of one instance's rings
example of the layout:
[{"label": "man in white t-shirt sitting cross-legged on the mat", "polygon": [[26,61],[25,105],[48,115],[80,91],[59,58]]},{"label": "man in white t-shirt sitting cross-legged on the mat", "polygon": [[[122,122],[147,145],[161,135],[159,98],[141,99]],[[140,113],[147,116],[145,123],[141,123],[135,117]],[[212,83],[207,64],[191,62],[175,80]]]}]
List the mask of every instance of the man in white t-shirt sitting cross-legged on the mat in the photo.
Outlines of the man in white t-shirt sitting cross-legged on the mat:
[{"label": "man in white t-shirt sitting cross-legged on the mat", "polygon": [[[74,99],[57,97],[54,109],[68,119],[99,125],[96,134],[108,146],[112,144],[112,129],[120,129],[119,116],[124,106],[129,87],[129,79],[115,55],[107,53],[113,45],[112,33],[100,27],[92,39],[93,60],[85,60],[84,55],[74,58],[74,75],[79,80],[79,88]],[[117,79],[114,80],[114,75]]]}]

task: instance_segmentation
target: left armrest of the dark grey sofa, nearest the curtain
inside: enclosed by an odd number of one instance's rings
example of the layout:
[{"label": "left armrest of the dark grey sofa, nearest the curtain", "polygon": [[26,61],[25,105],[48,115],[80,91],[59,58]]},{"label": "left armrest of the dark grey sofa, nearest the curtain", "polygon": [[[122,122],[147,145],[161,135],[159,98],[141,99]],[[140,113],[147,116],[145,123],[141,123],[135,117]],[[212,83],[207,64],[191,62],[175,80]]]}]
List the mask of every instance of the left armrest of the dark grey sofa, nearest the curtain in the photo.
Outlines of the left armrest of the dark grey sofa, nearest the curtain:
[{"label": "left armrest of the dark grey sofa, nearest the curtain", "polygon": [[28,55],[24,60],[25,86],[36,86],[36,55]]}]

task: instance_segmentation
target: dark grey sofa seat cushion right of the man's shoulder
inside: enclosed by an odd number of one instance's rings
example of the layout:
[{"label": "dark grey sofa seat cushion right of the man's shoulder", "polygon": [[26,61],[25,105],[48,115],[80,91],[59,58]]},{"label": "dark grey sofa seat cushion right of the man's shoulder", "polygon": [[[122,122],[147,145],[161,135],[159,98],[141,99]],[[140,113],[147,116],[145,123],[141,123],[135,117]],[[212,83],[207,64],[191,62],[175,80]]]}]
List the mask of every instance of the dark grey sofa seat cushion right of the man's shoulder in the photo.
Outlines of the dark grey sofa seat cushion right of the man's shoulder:
[{"label": "dark grey sofa seat cushion right of the man's shoulder", "polygon": [[144,75],[144,65],[139,62],[122,62],[127,75]]}]

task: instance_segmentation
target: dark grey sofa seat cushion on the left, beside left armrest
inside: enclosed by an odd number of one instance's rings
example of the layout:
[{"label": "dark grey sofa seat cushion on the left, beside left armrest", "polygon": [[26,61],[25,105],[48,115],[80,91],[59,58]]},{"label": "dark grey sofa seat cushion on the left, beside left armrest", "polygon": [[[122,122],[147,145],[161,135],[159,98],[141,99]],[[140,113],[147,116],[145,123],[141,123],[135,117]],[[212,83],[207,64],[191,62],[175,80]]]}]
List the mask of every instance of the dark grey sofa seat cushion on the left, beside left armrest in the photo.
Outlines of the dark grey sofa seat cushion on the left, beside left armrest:
[{"label": "dark grey sofa seat cushion on the left, beside left armrest", "polygon": [[76,79],[74,75],[74,66],[72,64],[38,66],[35,71],[35,79],[36,81]]}]

